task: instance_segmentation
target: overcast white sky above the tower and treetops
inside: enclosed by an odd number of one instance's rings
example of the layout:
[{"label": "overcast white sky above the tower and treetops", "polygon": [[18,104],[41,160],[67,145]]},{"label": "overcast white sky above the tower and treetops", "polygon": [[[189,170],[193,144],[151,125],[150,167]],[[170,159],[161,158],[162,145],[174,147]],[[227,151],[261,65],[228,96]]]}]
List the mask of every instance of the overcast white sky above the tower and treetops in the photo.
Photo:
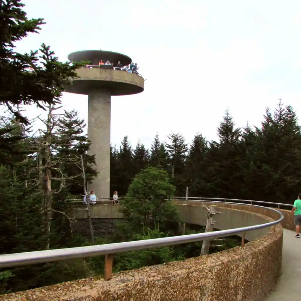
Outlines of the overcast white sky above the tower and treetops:
[{"label": "overcast white sky above the tower and treetops", "polygon": [[[133,147],[138,139],[150,147],[157,132],[216,139],[227,107],[237,126],[259,126],[278,98],[301,114],[299,0],[22,2],[47,24],[17,51],[44,42],[61,61],[101,48],[138,63],[144,92],[112,97],[112,144],[128,135]],[[88,96],[65,93],[62,103],[87,118]]]}]

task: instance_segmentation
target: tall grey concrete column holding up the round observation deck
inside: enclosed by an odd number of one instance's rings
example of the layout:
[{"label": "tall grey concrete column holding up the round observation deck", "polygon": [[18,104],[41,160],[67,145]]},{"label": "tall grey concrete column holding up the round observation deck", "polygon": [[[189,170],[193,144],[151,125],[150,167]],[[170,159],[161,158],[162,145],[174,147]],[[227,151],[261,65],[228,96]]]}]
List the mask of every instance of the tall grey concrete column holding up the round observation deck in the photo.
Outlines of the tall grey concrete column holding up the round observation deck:
[{"label": "tall grey concrete column holding up the round observation deck", "polygon": [[96,197],[110,197],[110,124],[111,92],[92,90],[88,95],[88,139],[92,141],[89,154],[95,155],[97,177],[88,185]]}]

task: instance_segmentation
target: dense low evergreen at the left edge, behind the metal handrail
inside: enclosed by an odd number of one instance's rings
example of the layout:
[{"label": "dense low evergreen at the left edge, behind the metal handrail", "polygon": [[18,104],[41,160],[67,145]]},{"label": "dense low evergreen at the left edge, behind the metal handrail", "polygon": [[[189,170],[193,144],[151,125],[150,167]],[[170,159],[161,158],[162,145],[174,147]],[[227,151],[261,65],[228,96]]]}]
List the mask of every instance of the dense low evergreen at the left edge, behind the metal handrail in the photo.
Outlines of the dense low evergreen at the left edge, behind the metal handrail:
[{"label": "dense low evergreen at the left edge, behind the metal handrail", "polygon": [[[26,169],[24,165],[27,165],[25,161],[22,168]],[[33,187],[26,187],[17,174],[16,168],[0,166],[0,254],[43,250],[46,245],[47,237],[41,227],[43,219],[37,206],[42,195]],[[40,281],[35,266],[8,271],[13,277],[7,279],[4,286],[0,284],[0,293],[33,288]]]}]

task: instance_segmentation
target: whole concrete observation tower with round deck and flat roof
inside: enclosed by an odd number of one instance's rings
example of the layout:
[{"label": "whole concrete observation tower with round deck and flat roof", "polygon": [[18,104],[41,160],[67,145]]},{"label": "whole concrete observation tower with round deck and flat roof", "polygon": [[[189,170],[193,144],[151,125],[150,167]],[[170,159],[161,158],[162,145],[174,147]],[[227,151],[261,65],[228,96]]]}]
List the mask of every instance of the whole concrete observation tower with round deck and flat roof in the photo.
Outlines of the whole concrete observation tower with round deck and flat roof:
[{"label": "whole concrete observation tower with round deck and flat roof", "polygon": [[[95,154],[98,177],[88,189],[94,190],[98,198],[110,197],[110,123],[111,96],[137,94],[144,90],[144,79],[140,74],[115,69],[121,62],[126,66],[132,59],[124,54],[102,51],[76,51],[68,60],[90,61],[87,68],[77,69],[79,78],[73,79],[66,92],[88,95],[88,139],[92,141],[90,154]],[[99,65],[109,61],[112,65]],[[118,187],[116,187],[118,190]]]}]

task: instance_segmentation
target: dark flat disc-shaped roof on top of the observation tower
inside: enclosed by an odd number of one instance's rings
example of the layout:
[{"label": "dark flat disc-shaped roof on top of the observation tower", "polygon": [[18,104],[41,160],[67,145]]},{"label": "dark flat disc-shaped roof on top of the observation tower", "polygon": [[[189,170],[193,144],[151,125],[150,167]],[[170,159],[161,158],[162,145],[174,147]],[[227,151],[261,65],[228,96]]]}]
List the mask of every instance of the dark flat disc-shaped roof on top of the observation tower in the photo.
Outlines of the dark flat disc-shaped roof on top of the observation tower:
[{"label": "dark flat disc-shaped roof on top of the observation tower", "polygon": [[114,66],[120,61],[123,66],[127,66],[132,62],[132,59],[127,55],[104,50],[82,50],[72,52],[68,55],[68,60],[73,62],[90,61],[90,65],[98,65],[100,61],[104,63],[109,61]]}]

